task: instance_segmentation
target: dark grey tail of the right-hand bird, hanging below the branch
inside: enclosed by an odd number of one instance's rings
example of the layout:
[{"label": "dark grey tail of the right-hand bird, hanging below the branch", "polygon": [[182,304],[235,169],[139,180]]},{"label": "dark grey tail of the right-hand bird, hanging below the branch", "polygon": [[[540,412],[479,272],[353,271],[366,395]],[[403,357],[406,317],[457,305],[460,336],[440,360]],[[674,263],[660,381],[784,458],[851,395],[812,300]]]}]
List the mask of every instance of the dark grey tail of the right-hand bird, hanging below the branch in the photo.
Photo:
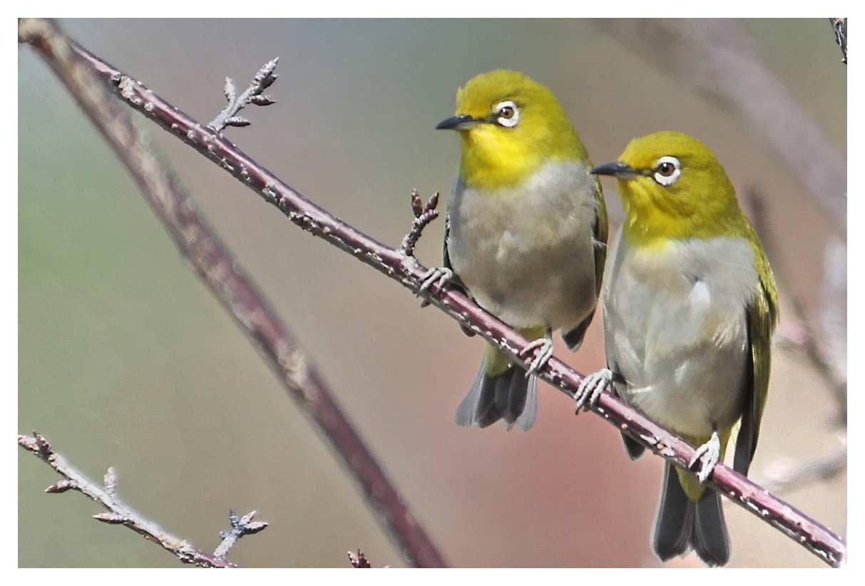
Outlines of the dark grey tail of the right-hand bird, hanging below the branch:
[{"label": "dark grey tail of the right-hand bird, hanging below the branch", "polygon": [[683,556],[692,548],[708,566],[724,565],[730,559],[730,538],[721,496],[707,490],[699,501],[690,500],[670,462],[663,468],[661,505],[652,532],[652,546],[664,562],[670,557]]}]

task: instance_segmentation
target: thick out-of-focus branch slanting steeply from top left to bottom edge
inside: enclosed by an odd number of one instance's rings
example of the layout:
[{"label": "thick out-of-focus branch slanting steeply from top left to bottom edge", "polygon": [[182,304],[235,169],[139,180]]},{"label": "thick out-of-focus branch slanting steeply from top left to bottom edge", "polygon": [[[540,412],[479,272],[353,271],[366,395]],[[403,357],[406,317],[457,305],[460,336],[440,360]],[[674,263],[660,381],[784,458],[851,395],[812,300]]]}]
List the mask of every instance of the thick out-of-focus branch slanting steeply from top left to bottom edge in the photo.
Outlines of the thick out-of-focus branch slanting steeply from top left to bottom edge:
[{"label": "thick out-of-focus branch slanting steeply from top left to bottom edge", "polygon": [[[138,182],[147,201],[163,225],[170,232],[183,258],[189,262],[196,274],[229,313],[246,331],[250,339],[259,345],[262,354],[270,362],[280,381],[292,397],[300,404],[313,424],[322,430],[331,447],[343,460],[343,465],[354,475],[362,494],[378,513],[378,519],[386,531],[400,545],[409,564],[440,567],[445,560],[432,540],[426,535],[418,519],[409,512],[405,500],[388,480],[384,470],[362,441],[360,434],[350,424],[348,417],[336,404],[324,378],[317,367],[298,345],[295,336],[280,322],[266,299],[259,294],[252,281],[240,270],[221,242],[202,219],[195,205],[183,192],[179,182],[170,174],[163,162],[144,143],[144,138],[131,119],[119,109],[116,100],[106,92],[93,77],[99,73],[102,80],[110,80],[110,86],[125,100],[138,105],[140,111],[165,112],[172,109],[157,96],[138,94],[142,86],[135,80],[121,75],[77,46],[70,45],[54,24],[42,20],[22,19],[19,22],[19,39],[38,48],[46,61],[61,77],[93,123],[105,135],[121,161]],[[152,102],[156,99],[156,102]],[[152,114],[153,111],[151,111]],[[188,120],[180,112],[184,119]],[[150,114],[149,114],[150,115]],[[221,135],[208,130],[202,124],[193,123],[196,133],[207,136],[221,144],[230,144]],[[221,150],[215,151],[223,167],[231,167],[227,159],[221,159]],[[249,163],[250,168],[253,163]],[[253,181],[252,175],[234,167],[237,176]],[[314,220],[299,218],[301,223]]]}]

